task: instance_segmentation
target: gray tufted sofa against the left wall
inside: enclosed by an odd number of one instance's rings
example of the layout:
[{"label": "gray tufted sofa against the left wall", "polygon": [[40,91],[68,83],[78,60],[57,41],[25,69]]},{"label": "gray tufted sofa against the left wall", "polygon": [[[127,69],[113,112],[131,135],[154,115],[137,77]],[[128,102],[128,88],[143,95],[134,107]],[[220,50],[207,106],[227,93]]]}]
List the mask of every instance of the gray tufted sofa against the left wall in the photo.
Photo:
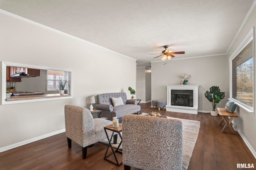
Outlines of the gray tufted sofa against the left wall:
[{"label": "gray tufted sofa against the left wall", "polygon": [[[113,106],[111,98],[121,97],[124,105]],[[96,109],[101,110],[100,117],[107,117],[108,120],[112,120],[113,117],[117,117],[119,122],[122,122],[123,115],[138,113],[140,106],[137,105],[137,100],[127,100],[126,93],[106,93],[97,95]]]}]

